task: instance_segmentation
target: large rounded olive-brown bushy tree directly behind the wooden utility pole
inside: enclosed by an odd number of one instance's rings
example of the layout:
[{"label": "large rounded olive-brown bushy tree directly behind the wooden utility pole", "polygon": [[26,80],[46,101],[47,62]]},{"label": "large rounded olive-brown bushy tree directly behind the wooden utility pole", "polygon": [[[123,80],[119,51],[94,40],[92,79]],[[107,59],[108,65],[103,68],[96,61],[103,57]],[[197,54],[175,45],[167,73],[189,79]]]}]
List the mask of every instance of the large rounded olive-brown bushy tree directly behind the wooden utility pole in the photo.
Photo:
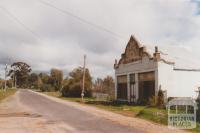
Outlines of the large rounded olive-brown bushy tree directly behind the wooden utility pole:
[{"label": "large rounded olive-brown bushy tree directly behind the wooden utility pole", "polygon": [[[83,82],[83,68],[75,68],[69,73],[69,78],[67,79],[67,84],[62,89],[62,95],[66,97],[80,97],[82,91]],[[92,77],[90,75],[89,69],[85,71],[85,96],[92,96]]]}]

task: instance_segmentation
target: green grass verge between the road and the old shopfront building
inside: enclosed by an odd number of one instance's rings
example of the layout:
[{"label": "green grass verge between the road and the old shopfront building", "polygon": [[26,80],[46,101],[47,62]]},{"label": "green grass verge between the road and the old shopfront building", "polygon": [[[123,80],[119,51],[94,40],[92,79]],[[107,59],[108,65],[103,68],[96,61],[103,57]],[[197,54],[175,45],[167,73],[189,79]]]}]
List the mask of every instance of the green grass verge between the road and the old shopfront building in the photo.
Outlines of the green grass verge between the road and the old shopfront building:
[{"label": "green grass verge between the road and the old shopfront building", "polygon": [[[79,102],[81,98],[62,97],[60,92],[43,92],[46,95],[57,97],[63,100]],[[113,103],[109,101],[98,101],[94,98],[84,98],[84,104],[98,107],[100,109],[112,111],[124,116],[137,117],[146,120],[153,121],[155,123],[167,125],[168,115],[166,109],[158,109],[148,106],[128,105],[123,103]],[[197,127],[192,132],[200,132],[200,123],[197,123]]]}]

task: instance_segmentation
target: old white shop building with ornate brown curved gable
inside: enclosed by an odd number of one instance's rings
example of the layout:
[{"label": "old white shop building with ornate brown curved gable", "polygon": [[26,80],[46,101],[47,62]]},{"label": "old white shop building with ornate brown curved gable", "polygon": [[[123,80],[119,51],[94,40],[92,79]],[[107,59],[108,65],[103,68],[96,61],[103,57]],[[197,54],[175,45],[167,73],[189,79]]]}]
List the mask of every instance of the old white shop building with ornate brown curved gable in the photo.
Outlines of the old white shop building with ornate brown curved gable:
[{"label": "old white shop building with ornate brown curved gable", "polygon": [[180,46],[141,45],[131,36],[115,61],[115,98],[137,102],[164,91],[166,98],[192,97],[200,86],[200,59]]}]

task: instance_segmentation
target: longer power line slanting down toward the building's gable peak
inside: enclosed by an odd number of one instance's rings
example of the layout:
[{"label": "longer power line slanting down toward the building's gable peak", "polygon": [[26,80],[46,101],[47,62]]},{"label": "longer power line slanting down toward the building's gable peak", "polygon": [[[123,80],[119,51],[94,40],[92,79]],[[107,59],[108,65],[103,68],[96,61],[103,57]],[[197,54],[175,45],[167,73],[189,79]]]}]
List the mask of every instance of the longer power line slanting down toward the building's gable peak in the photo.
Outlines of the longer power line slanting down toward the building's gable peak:
[{"label": "longer power line slanting down toward the building's gable peak", "polygon": [[69,12],[69,11],[66,11],[66,10],[63,10],[63,9],[61,9],[61,8],[58,8],[58,7],[54,6],[53,4],[51,4],[51,3],[49,3],[49,2],[46,2],[46,1],[44,1],[44,0],[38,0],[38,1],[39,1],[40,3],[46,5],[46,6],[52,7],[52,8],[54,8],[54,9],[56,9],[57,11],[59,11],[59,12],[65,14],[65,15],[67,15],[67,16],[71,16],[71,17],[73,17],[73,18],[75,18],[75,19],[77,19],[77,20],[79,20],[79,21],[81,21],[81,22],[83,22],[83,23],[85,23],[85,24],[88,24],[88,25],[90,25],[90,26],[92,26],[92,27],[94,27],[94,28],[96,28],[96,29],[105,31],[105,32],[107,32],[107,33],[109,33],[109,34],[111,34],[111,35],[117,37],[117,38],[122,39],[122,40],[125,39],[123,36],[121,36],[121,35],[119,35],[119,34],[113,32],[113,31],[111,31],[111,30],[108,30],[108,29],[106,29],[106,28],[104,28],[104,27],[102,27],[102,26],[100,26],[100,25],[94,24],[94,23],[92,23],[92,22],[90,22],[90,21],[88,21],[88,20],[86,20],[86,19],[84,19],[84,18],[81,18],[81,17],[79,17],[79,16],[77,16],[77,15],[74,15],[73,13],[71,13],[71,12]]}]

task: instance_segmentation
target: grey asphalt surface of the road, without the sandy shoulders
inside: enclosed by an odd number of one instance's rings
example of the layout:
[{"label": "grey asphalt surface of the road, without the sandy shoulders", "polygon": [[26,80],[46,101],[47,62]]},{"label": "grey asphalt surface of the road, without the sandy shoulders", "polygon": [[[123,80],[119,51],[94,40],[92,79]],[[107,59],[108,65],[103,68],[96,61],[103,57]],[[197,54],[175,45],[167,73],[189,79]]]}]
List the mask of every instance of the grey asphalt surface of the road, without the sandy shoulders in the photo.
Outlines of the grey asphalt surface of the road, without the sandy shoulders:
[{"label": "grey asphalt surface of the road, without the sandy shoulders", "polygon": [[64,123],[66,132],[76,133],[143,133],[88,112],[58,103],[27,90],[19,90],[20,103],[45,118],[49,123]]}]

